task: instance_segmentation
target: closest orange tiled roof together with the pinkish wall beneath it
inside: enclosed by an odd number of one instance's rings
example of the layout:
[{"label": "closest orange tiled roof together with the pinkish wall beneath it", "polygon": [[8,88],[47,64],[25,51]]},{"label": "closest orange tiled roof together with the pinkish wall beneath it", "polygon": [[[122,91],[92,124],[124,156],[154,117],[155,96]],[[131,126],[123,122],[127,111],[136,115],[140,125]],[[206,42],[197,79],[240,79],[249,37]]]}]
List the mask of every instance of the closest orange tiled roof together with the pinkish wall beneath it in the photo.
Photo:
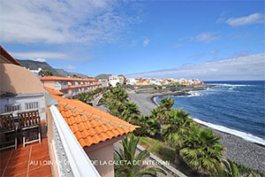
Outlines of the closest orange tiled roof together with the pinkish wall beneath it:
[{"label": "closest orange tiled roof together with the pinkish wall beneath it", "polygon": [[[113,143],[136,128],[79,100],[53,96],[58,110],[87,156],[97,162],[113,161]],[[114,176],[114,165],[95,165],[102,177]]]}]

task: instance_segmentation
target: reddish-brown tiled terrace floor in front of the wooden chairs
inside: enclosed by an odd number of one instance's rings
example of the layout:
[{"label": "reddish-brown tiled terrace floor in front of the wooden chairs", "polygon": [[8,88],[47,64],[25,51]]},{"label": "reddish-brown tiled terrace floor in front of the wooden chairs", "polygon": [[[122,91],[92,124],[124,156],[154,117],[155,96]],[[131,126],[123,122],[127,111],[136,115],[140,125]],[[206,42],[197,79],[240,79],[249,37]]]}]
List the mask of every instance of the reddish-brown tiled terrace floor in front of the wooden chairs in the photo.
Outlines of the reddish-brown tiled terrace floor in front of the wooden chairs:
[{"label": "reddish-brown tiled terrace floor in front of the wooden chairs", "polygon": [[1,150],[0,158],[2,177],[52,176],[48,138],[42,138],[42,143],[29,143],[25,148],[19,144],[17,150]]}]

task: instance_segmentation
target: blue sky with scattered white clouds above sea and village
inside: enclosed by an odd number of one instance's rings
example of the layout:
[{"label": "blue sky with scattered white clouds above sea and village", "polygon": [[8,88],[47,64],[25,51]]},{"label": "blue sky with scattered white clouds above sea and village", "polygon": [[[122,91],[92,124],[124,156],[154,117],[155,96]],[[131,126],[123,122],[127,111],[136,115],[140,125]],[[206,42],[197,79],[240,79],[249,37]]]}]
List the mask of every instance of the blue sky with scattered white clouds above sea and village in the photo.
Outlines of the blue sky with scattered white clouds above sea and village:
[{"label": "blue sky with scattered white clouds above sea and village", "polygon": [[246,0],[9,0],[0,43],[89,76],[265,80],[264,12]]}]

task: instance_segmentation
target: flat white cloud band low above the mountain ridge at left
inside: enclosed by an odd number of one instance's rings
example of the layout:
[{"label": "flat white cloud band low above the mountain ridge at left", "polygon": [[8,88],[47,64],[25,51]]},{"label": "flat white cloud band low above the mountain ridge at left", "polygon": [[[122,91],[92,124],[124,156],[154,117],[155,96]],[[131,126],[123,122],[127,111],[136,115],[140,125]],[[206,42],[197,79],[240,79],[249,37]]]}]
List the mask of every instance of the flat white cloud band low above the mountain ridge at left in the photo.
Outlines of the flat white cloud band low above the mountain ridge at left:
[{"label": "flat white cloud band low above the mountain ridge at left", "polygon": [[64,60],[68,59],[64,53],[50,51],[11,52],[11,55],[14,58],[32,59],[36,61],[45,61],[46,58]]}]

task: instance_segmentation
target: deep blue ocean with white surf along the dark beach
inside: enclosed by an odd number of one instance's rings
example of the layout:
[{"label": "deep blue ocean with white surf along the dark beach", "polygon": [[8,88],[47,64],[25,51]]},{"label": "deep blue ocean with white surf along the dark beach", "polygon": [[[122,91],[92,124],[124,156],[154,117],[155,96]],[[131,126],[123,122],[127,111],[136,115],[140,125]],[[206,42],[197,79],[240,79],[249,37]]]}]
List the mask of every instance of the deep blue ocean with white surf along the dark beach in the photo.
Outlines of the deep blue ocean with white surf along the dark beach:
[{"label": "deep blue ocean with white surf along the dark beach", "polygon": [[265,145],[265,81],[205,82],[216,87],[169,96],[175,99],[173,107],[183,108],[202,125]]}]

